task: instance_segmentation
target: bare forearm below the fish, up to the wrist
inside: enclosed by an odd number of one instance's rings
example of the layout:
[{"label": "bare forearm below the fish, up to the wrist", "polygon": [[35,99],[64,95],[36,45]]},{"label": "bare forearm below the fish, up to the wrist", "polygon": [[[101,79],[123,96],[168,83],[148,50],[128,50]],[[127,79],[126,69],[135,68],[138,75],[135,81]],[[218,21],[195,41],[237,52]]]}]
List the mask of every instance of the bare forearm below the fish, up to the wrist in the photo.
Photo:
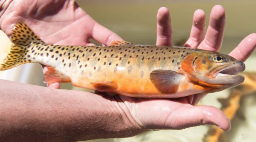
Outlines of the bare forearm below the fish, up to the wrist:
[{"label": "bare forearm below the fish, up to the wrist", "polygon": [[6,80],[0,84],[0,141],[82,141],[139,133],[101,96]]}]

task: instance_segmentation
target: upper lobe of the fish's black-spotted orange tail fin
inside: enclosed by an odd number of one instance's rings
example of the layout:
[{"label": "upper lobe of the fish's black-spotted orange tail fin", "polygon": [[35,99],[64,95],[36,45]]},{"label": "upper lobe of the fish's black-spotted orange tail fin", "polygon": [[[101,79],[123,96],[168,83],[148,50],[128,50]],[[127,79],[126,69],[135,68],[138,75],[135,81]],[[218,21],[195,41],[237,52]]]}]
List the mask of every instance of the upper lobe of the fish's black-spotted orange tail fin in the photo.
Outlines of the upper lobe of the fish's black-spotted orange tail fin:
[{"label": "upper lobe of the fish's black-spotted orange tail fin", "polygon": [[13,44],[16,45],[45,44],[24,22],[18,22],[14,25],[11,38]]}]

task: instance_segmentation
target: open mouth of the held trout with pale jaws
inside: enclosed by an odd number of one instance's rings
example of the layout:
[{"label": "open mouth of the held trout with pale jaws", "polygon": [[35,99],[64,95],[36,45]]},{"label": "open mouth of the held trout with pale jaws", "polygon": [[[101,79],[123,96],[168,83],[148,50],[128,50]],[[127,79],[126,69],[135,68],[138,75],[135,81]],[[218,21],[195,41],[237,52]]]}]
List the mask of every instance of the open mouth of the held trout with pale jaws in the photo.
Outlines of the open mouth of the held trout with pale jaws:
[{"label": "open mouth of the held trout with pale jaws", "polygon": [[245,64],[241,61],[236,64],[221,65],[210,71],[211,78],[206,80],[206,82],[210,84],[230,84],[230,86],[235,86],[244,81],[242,75],[237,75],[244,70]]}]

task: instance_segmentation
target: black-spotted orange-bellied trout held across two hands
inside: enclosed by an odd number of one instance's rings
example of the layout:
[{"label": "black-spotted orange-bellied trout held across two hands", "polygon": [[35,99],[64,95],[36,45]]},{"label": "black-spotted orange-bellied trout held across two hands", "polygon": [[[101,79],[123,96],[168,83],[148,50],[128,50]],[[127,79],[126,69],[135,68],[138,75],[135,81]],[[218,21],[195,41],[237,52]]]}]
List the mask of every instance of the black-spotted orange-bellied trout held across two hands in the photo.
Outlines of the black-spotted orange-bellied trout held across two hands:
[{"label": "black-spotted orange-bellied trout held across two hands", "polygon": [[48,66],[45,82],[71,82],[109,96],[179,98],[221,91],[244,81],[237,74],[245,64],[214,51],[127,41],[113,41],[110,46],[50,45],[24,22],[14,26],[11,39],[1,71],[40,63]]}]

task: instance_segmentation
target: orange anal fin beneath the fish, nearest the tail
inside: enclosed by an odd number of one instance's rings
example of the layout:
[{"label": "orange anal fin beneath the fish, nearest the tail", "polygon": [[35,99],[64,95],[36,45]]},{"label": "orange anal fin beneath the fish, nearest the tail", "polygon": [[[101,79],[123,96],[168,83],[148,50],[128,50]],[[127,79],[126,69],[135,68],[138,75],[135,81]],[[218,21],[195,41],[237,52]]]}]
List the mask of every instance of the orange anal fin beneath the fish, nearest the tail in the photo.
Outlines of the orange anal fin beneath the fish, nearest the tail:
[{"label": "orange anal fin beneath the fish, nearest the tail", "polygon": [[55,70],[54,67],[46,67],[47,71],[44,73],[44,82],[53,83],[53,82],[71,82],[71,79]]}]

